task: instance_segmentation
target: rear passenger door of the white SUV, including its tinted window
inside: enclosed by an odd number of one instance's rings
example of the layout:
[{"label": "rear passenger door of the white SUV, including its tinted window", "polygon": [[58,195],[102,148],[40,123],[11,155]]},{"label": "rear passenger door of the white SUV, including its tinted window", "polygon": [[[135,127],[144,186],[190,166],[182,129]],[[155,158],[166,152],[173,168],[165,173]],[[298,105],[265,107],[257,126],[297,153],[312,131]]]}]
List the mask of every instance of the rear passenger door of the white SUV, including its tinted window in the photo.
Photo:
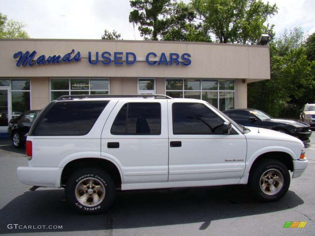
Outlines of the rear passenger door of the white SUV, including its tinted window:
[{"label": "rear passenger door of the white SUV, including its tinted window", "polygon": [[119,162],[123,183],[167,182],[167,101],[120,100],[101,136],[101,155]]}]

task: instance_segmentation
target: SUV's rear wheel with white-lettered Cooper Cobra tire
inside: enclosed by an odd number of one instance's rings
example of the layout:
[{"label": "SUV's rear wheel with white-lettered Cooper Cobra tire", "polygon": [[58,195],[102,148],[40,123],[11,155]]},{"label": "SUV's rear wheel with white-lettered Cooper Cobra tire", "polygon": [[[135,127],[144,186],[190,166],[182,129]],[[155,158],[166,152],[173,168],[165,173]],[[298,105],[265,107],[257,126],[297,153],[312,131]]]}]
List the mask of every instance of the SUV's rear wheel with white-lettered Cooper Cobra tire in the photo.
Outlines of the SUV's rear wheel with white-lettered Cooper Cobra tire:
[{"label": "SUV's rear wheel with white-lettered Cooper Cobra tire", "polygon": [[66,201],[72,209],[91,215],[102,213],[112,205],[116,188],[106,172],[97,168],[87,168],[70,176],[65,193]]}]

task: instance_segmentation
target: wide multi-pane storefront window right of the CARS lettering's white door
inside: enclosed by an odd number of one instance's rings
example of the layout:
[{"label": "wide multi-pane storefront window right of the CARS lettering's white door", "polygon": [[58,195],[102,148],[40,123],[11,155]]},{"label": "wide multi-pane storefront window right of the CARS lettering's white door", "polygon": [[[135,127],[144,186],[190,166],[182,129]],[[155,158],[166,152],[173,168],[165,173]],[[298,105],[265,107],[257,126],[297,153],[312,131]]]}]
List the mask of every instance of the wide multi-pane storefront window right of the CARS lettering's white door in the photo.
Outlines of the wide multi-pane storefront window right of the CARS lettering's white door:
[{"label": "wide multi-pane storefront window right of the CARS lettering's white door", "polygon": [[165,79],[165,94],[172,98],[202,99],[222,111],[235,107],[234,80]]}]

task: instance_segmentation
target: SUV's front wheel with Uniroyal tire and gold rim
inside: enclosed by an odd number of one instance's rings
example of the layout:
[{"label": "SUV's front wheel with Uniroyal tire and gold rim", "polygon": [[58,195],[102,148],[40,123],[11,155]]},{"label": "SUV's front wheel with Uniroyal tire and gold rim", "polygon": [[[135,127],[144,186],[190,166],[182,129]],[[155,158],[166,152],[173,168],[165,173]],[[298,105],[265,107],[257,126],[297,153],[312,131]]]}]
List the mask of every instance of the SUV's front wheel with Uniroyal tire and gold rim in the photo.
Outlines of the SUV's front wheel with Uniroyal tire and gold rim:
[{"label": "SUV's front wheel with Uniroyal tire and gold rim", "polygon": [[289,186],[289,170],[278,160],[261,160],[250,170],[249,188],[259,201],[277,201],[287,193]]}]

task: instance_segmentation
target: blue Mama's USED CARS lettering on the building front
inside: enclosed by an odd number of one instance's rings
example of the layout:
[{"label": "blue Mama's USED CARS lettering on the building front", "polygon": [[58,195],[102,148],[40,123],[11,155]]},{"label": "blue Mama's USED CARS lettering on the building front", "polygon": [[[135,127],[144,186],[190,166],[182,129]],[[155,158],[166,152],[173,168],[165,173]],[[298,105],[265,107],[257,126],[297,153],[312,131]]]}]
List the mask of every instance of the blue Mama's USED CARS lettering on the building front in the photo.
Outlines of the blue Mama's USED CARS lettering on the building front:
[{"label": "blue Mama's USED CARS lettering on the building front", "polygon": [[[23,53],[22,51],[14,53],[13,58],[17,59],[16,66],[19,67],[22,65],[33,66],[33,65],[45,65],[45,64],[59,64],[59,63],[70,63],[70,62],[79,62],[81,61],[81,53],[77,52],[75,54],[74,49],[70,53],[66,53],[64,56],[61,55],[53,55],[53,56],[45,56],[40,55],[39,57],[35,57],[37,54],[36,51],[29,52],[26,51]],[[100,58],[101,57],[101,58]],[[154,52],[149,52],[146,54],[145,58],[137,59],[137,56],[133,52],[95,52],[88,53],[88,62],[91,65],[97,65],[99,62],[103,65],[134,65],[137,61],[146,61],[148,65],[183,65],[188,66],[192,63],[190,59],[191,55],[189,53],[161,53],[157,55]]]}]

